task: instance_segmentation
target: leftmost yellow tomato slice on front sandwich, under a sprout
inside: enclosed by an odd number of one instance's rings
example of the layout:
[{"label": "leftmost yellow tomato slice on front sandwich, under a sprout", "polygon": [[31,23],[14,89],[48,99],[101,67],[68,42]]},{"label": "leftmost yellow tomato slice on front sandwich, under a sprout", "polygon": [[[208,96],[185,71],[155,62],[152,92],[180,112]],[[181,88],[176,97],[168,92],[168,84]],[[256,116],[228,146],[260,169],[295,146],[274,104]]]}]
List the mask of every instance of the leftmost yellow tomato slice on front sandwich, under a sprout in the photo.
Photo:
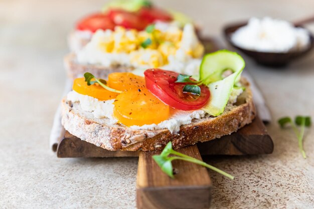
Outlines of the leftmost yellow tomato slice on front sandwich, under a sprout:
[{"label": "leftmost yellow tomato slice on front sandwich, under a sprout", "polygon": [[88,95],[99,100],[114,99],[118,96],[118,93],[108,91],[98,83],[88,86],[84,78],[77,78],[74,80],[73,90],[79,94]]}]

